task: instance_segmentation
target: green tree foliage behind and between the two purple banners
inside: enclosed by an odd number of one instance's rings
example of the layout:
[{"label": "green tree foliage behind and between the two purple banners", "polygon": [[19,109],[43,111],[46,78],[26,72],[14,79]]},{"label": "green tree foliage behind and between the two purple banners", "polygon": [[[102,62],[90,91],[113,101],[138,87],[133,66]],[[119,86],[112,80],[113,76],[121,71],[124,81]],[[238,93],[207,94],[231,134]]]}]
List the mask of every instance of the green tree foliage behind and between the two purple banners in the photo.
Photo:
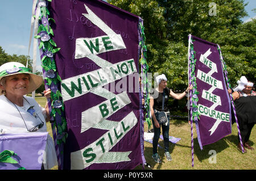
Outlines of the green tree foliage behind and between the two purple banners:
[{"label": "green tree foliage behind and between the two purple banners", "polygon": [[[109,0],[114,6],[141,16],[144,22],[147,62],[151,73],[166,74],[168,86],[188,84],[188,35],[219,44],[232,87],[242,75],[256,79],[255,20],[247,15],[243,0],[216,0],[216,15],[207,0]],[[255,11],[255,10],[254,10]]]}]

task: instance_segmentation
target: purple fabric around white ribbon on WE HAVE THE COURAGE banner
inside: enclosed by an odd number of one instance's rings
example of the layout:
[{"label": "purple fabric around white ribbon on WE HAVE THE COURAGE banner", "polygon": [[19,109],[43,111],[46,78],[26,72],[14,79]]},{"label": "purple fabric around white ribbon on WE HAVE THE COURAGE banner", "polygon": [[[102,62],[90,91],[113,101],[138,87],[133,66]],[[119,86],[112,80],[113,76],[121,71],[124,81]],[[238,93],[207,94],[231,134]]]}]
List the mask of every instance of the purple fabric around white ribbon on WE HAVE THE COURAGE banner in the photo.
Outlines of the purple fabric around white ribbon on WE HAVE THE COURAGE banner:
[{"label": "purple fabric around white ribbon on WE HAVE THE COURAGE banner", "polygon": [[[214,72],[211,76],[218,81],[222,82],[223,90],[221,89],[214,89],[213,94],[220,96],[221,98],[221,106],[217,106],[214,108],[215,111],[220,111],[224,113],[229,113],[229,121],[221,121],[220,124],[218,124],[216,130],[210,135],[210,129],[213,127],[214,123],[216,122],[216,119],[213,119],[212,117],[200,115],[200,120],[198,120],[198,128],[200,133],[200,140],[201,145],[208,145],[212,144],[213,142],[216,142],[220,140],[221,138],[225,137],[226,135],[230,134],[231,131],[231,108],[230,108],[230,99],[228,95],[228,89],[226,88],[226,82],[224,79],[223,74],[223,68],[220,60],[220,55],[218,53],[218,47],[217,44],[210,43],[208,41],[202,40],[198,37],[192,36],[193,41],[193,48],[196,52],[196,77],[199,70],[203,71],[205,74],[209,73],[210,68],[200,62],[200,56],[201,54],[204,54],[207,52],[207,50],[210,48],[210,51],[212,53],[209,54],[207,57],[210,61],[214,62],[217,65],[217,73]],[[205,83],[204,81],[201,81],[199,78],[196,78],[197,83],[197,91],[199,91],[199,101],[197,102],[197,105],[201,104],[205,107],[211,107],[213,105],[213,102],[210,102],[207,99],[202,98],[202,92],[203,90],[209,90],[212,86],[208,83]]]}]

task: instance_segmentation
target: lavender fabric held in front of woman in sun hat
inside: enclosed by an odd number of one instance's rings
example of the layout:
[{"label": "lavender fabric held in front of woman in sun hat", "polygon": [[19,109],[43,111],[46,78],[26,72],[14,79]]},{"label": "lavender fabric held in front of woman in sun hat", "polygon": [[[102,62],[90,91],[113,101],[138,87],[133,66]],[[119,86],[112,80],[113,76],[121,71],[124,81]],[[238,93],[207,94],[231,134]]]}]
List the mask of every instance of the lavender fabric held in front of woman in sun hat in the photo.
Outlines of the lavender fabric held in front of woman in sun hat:
[{"label": "lavender fabric held in front of woman in sun hat", "polygon": [[47,135],[48,132],[0,135],[0,153],[4,150],[14,151],[16,155],[11,158],[18,162],[0,162],[0,170],[17,170],[20,167],[26,170],[40,170]]}]

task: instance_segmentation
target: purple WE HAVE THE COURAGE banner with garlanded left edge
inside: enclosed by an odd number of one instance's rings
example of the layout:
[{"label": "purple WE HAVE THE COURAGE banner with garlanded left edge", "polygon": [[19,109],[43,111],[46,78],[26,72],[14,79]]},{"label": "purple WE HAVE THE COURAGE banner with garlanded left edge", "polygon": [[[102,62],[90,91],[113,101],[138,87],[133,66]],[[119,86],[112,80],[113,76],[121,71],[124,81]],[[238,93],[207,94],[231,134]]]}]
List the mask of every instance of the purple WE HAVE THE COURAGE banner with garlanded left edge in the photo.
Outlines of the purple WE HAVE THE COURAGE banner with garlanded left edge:
[{"label": "purple WE HAVE THE COURAGE banner with garlanded left edge", "polygon": [[192,112],[202,149],[232,132],[231,104],[217,44],[195,36],[190,42]]}]

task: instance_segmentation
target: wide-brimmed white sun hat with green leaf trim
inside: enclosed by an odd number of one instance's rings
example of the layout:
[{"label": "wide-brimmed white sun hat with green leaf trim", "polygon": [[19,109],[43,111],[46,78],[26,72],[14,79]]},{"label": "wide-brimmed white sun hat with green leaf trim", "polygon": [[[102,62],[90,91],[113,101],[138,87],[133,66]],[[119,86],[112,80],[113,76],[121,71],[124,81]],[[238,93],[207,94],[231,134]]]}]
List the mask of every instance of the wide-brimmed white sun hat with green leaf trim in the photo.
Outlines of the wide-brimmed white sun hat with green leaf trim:
[{"label": "wide-brimmed white sun hat with green leaf trim", "polygon": [[[30,75],[30,85],[28,86],[28,93],[38,89],[42,85],[43,78],[40,75],[32,73],[31,69],[26,68],[23,64],[19,62],[7,62],[0,66],[0,82],[3,77],[14,75],[14,74],[29,74]],[[2,94],[2,89],[0,88],[0,95]]]}]

